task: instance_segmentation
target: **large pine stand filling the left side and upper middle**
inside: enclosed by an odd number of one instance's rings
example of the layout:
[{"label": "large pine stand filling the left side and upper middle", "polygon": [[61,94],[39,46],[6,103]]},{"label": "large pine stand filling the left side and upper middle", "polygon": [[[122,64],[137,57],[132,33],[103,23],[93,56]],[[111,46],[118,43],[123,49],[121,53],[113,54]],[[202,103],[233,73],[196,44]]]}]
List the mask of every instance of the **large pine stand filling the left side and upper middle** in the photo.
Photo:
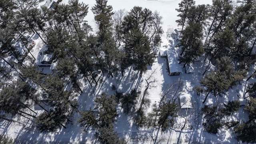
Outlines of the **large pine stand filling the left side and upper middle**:
[{"label": "large pine stand filling the left side and upper middle", "polygon": [[[97,25],[95,33],[86,21],[88,5],[78,0],[69,0],[68,4],[57,2],[53,9],[38,8],[38,0],[0,2],[2,119],[18,122],[12,118],[18,115],[32,118],[31,125],[40,131],[58,132],[66,128],[66,123],[72,124],[72,115],[78,112],[76,96],[83,92],[83,81],[91,86],[98,84],[98,70],[111,77],[118,73],[124,76],[125,69],[134,66],[142,76],[146,66],[156,58],[155,48],[163,33],[162,17],[158,12],[139,6],[134,6],[130,12],[114,13],[107,2],[96,0],[91,8]],[[24,56],[15,46],[20,42],[30,53],[27,35],[32,33],[47,44],[44,54],[52,54],[51,60],[57,64],[53,75],[41,74],[34,64],[34,56],[27,56],[24,63]],[[70,90],[69,85],[72,85]],[[122,97],[126,112],[138,97],[134,95],[134,99],[129,100],[129,96]],[[106,101],[110,104],[106,105]],[[97,116],[94,117],[92,110],[81,112],[82,118],[87,116],[86,123],[80,120],[81,125],[95,128],[95,136],[101,143],[116,143],[118,137],[112,124],[116,102],[106,94],[95,102]],[[31,109],[33,105],[44,112],[37,114]],[[88,122],[88,116],[94,117],[92,122]],[[106,139],[110,136],[113,138]]]}]

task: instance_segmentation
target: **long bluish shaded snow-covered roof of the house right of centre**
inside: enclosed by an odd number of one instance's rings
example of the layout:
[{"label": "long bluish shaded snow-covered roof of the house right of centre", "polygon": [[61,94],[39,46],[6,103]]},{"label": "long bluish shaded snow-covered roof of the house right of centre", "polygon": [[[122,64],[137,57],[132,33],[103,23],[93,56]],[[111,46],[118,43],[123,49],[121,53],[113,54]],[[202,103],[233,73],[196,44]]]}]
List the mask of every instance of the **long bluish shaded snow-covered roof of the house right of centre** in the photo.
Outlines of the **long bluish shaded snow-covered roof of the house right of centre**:
[{"label": "long bluish shaded snow-covered roof of the house right of centre", "polygon": [[179,54],[176,52],[174,48],[167,52],[167,58],[168,58],[170,73],[182,72],[182,67],[178,63]]}]

